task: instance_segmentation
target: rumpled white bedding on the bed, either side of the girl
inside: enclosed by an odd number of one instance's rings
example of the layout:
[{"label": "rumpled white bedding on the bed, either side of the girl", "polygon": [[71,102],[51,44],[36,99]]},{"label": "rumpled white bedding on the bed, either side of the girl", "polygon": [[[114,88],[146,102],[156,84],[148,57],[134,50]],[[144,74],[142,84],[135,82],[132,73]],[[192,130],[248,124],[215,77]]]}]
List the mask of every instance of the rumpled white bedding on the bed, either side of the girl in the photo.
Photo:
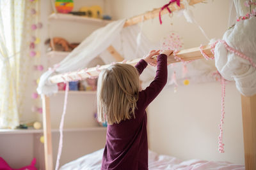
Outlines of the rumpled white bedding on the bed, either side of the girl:
[{"label": "rumpled white bedding on the bed, either side of the girl", "polygon": [[[61,170],[93,170],[100,169],[103,150],[84,155],[62,166]],[[180,160],[168,155],[159,155],[148,151],[148,169],[179,169],[179,170],[244,170],[243,165],[231,164],[230,162],[212,162],[206,160]]]}]

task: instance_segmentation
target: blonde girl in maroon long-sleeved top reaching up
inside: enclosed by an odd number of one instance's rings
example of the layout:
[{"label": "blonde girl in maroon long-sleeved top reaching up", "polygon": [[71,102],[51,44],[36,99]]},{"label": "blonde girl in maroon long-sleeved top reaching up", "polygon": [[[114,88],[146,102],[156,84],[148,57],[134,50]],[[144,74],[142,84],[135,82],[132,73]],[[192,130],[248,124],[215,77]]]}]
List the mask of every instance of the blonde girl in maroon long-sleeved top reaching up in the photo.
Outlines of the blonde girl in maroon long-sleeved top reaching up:
[{"label": "blonde girl in maroon long-sleeved top reaching up", "polygon": [[[167,56],[173,51],[152,50],[136,64],[114,64],[99,75],[98,120],[108,122],[101,169],[148,169],[147,113],[145,109],[167,81]],[[152,57],[157,56],[157,62]],[[154,81],[140,91],[139,74],[156,66]]]}]

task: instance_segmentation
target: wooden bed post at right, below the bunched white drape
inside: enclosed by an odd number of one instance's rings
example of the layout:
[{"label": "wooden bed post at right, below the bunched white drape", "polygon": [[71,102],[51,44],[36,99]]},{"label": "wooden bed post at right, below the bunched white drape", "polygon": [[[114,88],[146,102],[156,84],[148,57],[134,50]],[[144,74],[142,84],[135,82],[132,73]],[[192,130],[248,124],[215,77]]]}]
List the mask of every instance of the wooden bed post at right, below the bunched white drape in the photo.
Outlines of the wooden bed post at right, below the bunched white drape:
[{"label": "wooden bed post at right, below the bunched white drape", "polygon": [[241,95],[245,169],[256,169],[256,95]]}]

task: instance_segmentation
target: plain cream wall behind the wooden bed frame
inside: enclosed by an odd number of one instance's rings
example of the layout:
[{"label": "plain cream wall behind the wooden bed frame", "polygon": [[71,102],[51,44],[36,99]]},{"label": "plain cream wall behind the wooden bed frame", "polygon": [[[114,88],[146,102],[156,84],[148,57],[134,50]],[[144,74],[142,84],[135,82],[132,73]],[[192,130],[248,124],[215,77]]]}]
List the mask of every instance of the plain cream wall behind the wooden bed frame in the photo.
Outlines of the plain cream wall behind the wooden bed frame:
[{"label": "plain cream wall behind the wooden bed frame", "polygon": [[[168,1],[110,1],[115,19],[129,18],[159,8]],[[221,38],[228,28],[230,1],[215,0],[192,7],[198,24],[209,38]],[[182,15],[144,22],[143,32],[157,43],[168,32],[182,36],[185,48],[207,44],[198,27],[186,22]],[[177,93],[167,87],[150,104],[148,110],[149,147],[159,153],[180,159],[227,160],[244,164],[243,129],[240,94],[234,83],[227,85],[223,142],[225,153],[218,153],[218,124],[220,123],[220,83],[180,86]]]}]

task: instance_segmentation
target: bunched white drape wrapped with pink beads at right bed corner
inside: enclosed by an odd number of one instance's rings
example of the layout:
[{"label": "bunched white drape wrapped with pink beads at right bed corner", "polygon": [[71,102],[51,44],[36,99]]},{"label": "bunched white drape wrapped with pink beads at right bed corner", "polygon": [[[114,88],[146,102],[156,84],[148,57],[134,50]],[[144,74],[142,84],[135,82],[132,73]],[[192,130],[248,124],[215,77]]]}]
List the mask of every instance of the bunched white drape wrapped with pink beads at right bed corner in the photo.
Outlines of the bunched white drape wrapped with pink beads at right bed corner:
[{"label": "bunched white drape wrapped with pink beads at right bed corner", "polygon": [[[234,1],[237,15],[244,15],[250,8],[244,7],[244,0]],[[256,10],[256,8],[255,8]],[[228,46],[244,53],[256,63],[256,17],[240,20],[232,29],[228,29],[223,35]],[[215,65],[221,75],[230,81],[236,81],[236,87],[244,96],[256,94],[256,68],[252,64],[237,55],[229,52],[223,43],[218,43],[214,49]]]}]

